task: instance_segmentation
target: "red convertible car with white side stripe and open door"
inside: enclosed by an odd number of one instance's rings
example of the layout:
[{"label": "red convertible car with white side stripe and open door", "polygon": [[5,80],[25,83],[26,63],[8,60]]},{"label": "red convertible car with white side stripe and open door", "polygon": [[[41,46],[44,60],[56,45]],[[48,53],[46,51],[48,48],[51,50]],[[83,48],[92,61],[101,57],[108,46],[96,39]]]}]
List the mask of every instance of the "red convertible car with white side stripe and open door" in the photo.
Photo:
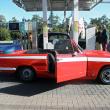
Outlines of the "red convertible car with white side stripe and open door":
[{"label": "red convertible car with white side stripe and open door", "polygon": [[110,53],[82,50],[71,39],[50,40],[53,49],[0,54],[0,72],[15,73],[23,81],[35,77],[56,82],[73,79],[98,79],[110,84]]}]

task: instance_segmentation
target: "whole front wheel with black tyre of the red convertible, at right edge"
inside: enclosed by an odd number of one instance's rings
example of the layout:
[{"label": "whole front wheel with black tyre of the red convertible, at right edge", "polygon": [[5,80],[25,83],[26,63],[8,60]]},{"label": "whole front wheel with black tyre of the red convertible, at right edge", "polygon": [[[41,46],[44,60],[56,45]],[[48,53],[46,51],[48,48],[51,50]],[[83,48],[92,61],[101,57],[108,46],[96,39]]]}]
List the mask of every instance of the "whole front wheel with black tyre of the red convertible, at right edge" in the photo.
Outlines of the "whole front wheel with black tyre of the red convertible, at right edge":
[{"label": "whole front wheel with black tyre of the red convertible, at right edge", "polygon": [[110,84],[110,67],[105,67],[99,74],[99,80],[103,84]]}]

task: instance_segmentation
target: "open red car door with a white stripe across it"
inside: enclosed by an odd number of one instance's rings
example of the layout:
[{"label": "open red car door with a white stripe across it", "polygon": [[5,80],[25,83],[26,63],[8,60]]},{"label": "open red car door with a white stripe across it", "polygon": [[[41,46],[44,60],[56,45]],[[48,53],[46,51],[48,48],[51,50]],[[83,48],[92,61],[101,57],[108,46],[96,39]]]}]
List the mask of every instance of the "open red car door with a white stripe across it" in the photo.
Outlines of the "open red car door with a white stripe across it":
[{"label": "open red car door with a white stripe across it", "polygon": [[66,50],[65,52],[65,50],[63,52],[62,51],[58,52],[57,54],[56,62],[57,83],[78,79],[86,76],[87,57],[77,52],[71,53],[68,50]]}]

